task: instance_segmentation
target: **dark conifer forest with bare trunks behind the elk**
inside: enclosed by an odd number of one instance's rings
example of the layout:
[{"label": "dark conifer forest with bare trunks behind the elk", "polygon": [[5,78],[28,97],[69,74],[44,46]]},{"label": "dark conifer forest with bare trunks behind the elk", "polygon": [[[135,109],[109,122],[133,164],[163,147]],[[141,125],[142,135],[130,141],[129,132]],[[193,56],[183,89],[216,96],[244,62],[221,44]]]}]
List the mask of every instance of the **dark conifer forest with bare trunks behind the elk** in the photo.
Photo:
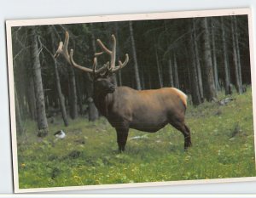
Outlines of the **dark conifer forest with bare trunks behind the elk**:
[{"label": "dark conifer forest with bare trunks behind the elk", "polygon": [[[26,119],[47,134],[48,118],[61,114],[65,126],[79,116],[95,121],[90,76],[53,58],[70,32],[69,48],[80,65],[92,66],[96,38],[110,46],[117,39],[117,60],[130,61],[116,74],[118,86],[135,89],[175,87],[200,105],[218,91],[241,94],[250,84],[247,16],[176,20],[138,20],[72,25],[13,27],[15,109],[18,133]],[[103,65],[108,56],[100,61]],[[42,133],[42,134],[41,134]]]}]

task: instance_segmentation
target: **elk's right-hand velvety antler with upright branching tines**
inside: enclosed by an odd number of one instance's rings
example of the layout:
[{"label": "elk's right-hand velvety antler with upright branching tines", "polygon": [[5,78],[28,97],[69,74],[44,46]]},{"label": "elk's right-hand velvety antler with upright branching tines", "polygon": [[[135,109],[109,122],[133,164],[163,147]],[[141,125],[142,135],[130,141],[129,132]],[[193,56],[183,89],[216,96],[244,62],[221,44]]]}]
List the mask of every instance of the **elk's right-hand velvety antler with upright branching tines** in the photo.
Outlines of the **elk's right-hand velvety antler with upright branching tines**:
[{"label": "elk's right-hand velvety antler with upright branching tines", "polygon": [[120,69],[122,69],[123,67],[125,67],[125,65],[127,65],[128,61],[129,61],[129,56],[128,54],[125,54],[125,61],[124,63],[122,63],[119,60],[119,65],[115,66],[115,56],[116,56],[116,39],[115,37],[112,35],[112,51],[109,50],[100,39],[97,39],[98,44],[100,45],[100,47],[102,48],[102,52],[100,53],[96,53],[95,56],[99,56],[101,54],[107,53],[110,55],[111,60],[110,60],[110,66],[108,67],[108,71],[109,72],[116,72],[119,71]]}]

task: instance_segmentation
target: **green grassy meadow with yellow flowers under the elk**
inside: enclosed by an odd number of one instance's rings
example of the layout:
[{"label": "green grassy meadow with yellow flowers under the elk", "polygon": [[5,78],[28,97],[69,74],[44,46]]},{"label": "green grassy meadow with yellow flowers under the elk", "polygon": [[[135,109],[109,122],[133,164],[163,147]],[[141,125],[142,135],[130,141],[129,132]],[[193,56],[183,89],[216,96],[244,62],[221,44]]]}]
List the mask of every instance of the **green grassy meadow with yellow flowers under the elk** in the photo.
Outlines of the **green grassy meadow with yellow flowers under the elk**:
[{"label": "green grassy meadow with yellow flowers under the elk", "polygon": [[[17,140],[20,189],[255,176],[251,88],[232,98],[224,106],[189,105],[193,146],[187,152],[172,126],[157,133],[130,130],[119,154],[116,133],[104,118],[79,118],[66,128],[56,118],[44,139],[36,136],[36,123],[27,122],[26,135]],[[55,141],[60,129],[67,138]]]}]

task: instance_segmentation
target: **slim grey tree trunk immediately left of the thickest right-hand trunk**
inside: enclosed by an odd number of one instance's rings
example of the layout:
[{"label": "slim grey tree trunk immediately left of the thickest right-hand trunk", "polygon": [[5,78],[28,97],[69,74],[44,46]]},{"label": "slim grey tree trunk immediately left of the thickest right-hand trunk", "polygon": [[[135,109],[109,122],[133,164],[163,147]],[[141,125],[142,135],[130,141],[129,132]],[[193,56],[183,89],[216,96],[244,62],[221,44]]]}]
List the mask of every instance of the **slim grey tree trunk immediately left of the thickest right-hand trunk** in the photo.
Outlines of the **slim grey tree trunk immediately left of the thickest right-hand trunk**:
[{"label": "slim grey tree trunk immediately left of the thickest right-hand trunk", "polygon": [[199,85],[199,92],[201,96],[201,101],[203,102],[204,99],[204,89],[202,84],[202,76],[201,76],[201,63],[199,58],[199,51],[198,51],[198,45],[197,45],[197,34],[195,29],[195,18],[193,19],[193,42],[194,42],[194,48],[195,48],[195,65],[196,65],[196,71],[197,71],[197,77],[198,77],[198,85]]}]

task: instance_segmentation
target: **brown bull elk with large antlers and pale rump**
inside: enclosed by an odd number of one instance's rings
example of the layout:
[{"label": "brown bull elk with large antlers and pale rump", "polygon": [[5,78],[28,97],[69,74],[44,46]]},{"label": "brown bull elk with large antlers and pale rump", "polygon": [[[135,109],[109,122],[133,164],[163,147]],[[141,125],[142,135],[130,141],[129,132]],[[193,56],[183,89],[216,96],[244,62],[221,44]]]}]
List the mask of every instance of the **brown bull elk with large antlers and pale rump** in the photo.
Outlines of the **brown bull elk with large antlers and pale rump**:
[{"label": "brown bull elk with large antlers and pale rump", "polygon": [[[177,88],[142,91],[125,86],[116,88],[113,82],[113,73],[127,65],[129,56],[125,54],[125,61],[119,61],[119,65],[115,65],[116,40],[113,35],[112,50],[97,39],[102,52],[95,54],[92,69],[78,65],[73,60],[73,49],[70,50],[70,53],[67,51],[68,41],[69,34],[66,32],[65,42],[64,44],[60,42],[55,58],[61,54],[73,67],[92,74],[94,103],[102,116],[105,116],[115,128],[119,151],[125,150],[129,128],[154,133],[168,123],[183,133],[185,150],[191,145],[189,127],[184,123],[187,96],[182,91]],[[97,57],[104,53],[110,55],[110,64],[108,62],[100,69],[96,69]]]}]

